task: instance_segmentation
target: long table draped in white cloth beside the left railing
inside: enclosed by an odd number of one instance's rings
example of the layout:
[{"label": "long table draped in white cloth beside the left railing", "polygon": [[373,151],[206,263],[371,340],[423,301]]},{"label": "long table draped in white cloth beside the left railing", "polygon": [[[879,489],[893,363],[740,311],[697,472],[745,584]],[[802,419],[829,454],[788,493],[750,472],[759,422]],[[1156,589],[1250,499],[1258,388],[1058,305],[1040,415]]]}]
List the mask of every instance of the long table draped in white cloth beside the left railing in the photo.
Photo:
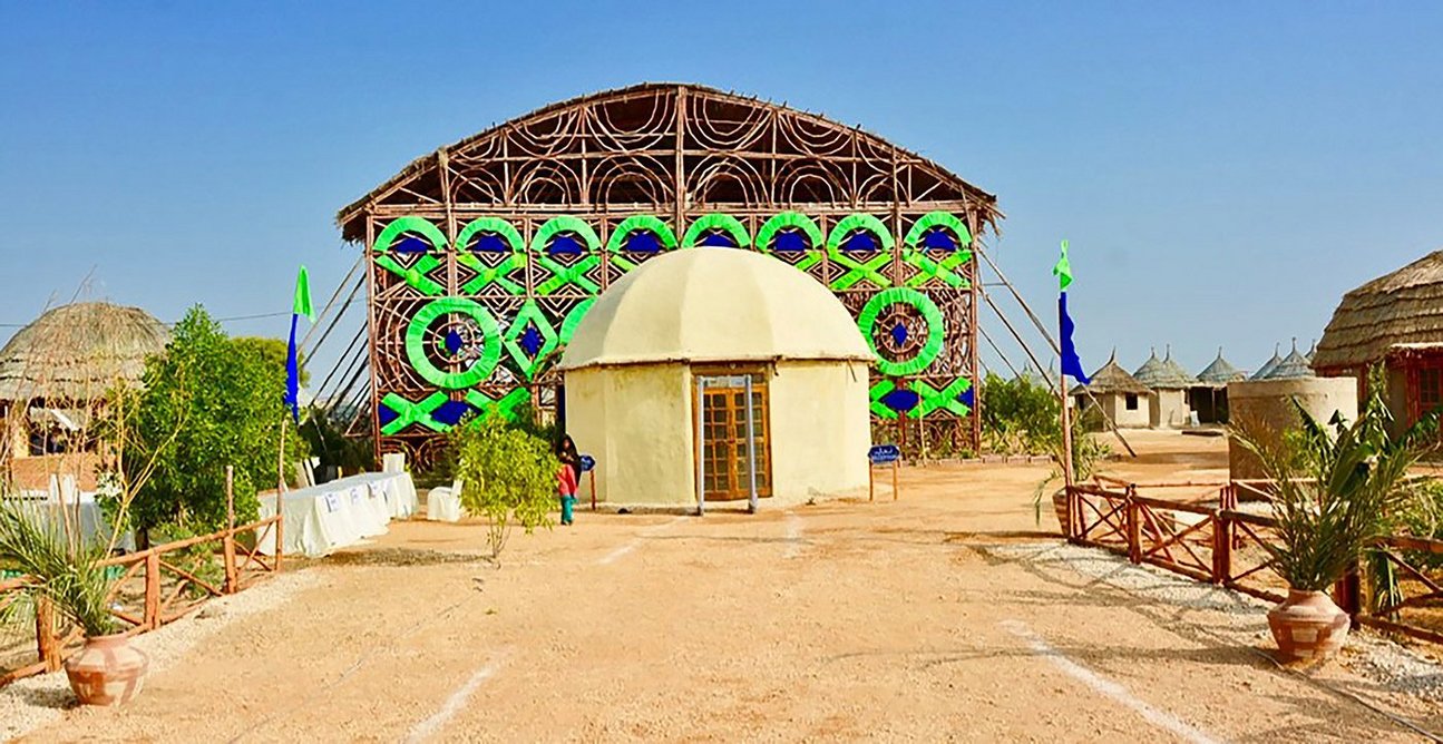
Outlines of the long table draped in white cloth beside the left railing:
[{"label": "long table draped in white cloth beside the left railing", "polygon": [[[319,486],[284,493],[287,554],[328,555],[336,548],[384,535],[392,519],[405,519],[417,509],[416,484],[410,473],[362,473]],[[260,496],[260,518],[276,515],[276,495]],[[276,532],[266,532],[260,549],[276,552]]]}]

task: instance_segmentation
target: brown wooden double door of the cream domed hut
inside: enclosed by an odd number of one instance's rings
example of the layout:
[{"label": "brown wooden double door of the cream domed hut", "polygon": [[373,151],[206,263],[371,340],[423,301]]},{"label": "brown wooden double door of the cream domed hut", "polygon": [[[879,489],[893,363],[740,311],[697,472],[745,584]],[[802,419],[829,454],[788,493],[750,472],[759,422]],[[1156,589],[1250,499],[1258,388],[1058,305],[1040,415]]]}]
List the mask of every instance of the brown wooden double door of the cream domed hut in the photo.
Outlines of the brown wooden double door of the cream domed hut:
[{"label": "brown wooden double door of the cream domed hut", "polygon": [[[750,378],[750,405],[747,405]],[[697,376],[701,389],[701,482],[707,500],[747,499],[755,457],[756,495],[772,495],[766,375]],[[747,409],[752,412],[747,427]],[[747,447],[747,430],[750,443]]]}]

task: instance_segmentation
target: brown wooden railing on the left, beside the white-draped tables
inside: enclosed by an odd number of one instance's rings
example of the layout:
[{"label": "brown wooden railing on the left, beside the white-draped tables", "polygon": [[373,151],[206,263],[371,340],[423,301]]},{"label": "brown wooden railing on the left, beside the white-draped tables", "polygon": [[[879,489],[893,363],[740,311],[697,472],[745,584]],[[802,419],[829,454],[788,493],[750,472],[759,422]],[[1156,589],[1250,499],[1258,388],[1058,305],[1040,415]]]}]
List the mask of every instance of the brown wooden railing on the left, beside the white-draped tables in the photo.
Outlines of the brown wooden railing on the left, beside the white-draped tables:
[{"label": "brown wooden railing on the left, beside the white-draped tables", "polygon": [[[101,561],[101,567],[118,572],[105,598],[111,604],[111,614],[120,621],[118,632],[136,634],[157,629],[195,611],[211,597],[235,594],[253,585],[260,577],[280,571],[280,529],[281,518],[277,515]],[[260,546],[267,541],[276,544],[273,557],[260,552]],[[199,572],[196,567],[179,565],[177,554],[198,548],[201,561],[212,565],[219,552],[218,580],[196,575]],[[30,580],[26,577],[0,581],[0,608],[20,601],[29,585]],[[53,607],[45,598],[38,598],[35,660],[20,662],[13,669],[3,670],[0,686],[25,676],[61,669],[65,656],[78,647],[82,634],[78,627],[61,627],[56,620]]]}]

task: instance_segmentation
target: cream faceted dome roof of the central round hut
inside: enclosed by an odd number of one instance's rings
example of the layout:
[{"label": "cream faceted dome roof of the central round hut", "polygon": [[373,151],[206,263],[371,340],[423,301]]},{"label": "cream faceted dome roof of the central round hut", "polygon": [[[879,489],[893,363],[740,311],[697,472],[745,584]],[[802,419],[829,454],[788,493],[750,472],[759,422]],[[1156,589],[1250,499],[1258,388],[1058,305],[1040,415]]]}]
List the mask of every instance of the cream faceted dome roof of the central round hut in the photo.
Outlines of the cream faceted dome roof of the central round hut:
[{"label": "cream faceted dome roof of the central round hut", "polygon": [[560,369],[773,359],[874,356],[817,280],[752,251],[690,248],[646,261],[602,293]]}]

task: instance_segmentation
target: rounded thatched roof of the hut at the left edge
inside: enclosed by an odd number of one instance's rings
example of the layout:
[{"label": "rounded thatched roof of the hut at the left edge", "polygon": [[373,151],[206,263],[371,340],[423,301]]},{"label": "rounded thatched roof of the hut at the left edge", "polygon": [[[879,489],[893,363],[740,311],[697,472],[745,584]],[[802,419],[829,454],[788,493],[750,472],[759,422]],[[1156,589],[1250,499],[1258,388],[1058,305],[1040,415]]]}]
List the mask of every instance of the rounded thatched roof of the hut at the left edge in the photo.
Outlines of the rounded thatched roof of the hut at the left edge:
[{"label": "rounded thatched roof of the hut at the left edge", "polygon": [[170,330],[139,307],[76,303],[46,311],[0,349],[0,401],[89,401],[136,384]]}]

